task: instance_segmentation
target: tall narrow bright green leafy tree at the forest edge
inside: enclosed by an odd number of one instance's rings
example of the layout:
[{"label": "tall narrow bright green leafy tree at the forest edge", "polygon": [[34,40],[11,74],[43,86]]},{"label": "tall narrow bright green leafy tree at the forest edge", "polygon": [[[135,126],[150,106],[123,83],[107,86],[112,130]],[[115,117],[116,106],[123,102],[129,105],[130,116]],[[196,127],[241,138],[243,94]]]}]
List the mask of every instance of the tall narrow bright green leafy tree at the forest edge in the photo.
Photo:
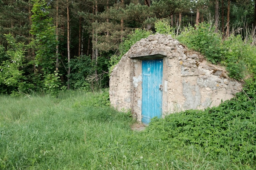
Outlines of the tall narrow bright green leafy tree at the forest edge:
[{"label": "tall narrow bright green leafy tree at the forest edge", "polygon": [[56,40],[55,27],[52,18],[49,16],[49,8],[45,0],[33,0],[31,9],[32,25],[31,35],[34,35],[29,46],[35,50],[35,60],[31,61],[37,67],[38,73],[35,74],[34,83],[43,82],[43,90],[54,96],[65,88],[61,87],[60,75],[55,69],[56,61]]}]

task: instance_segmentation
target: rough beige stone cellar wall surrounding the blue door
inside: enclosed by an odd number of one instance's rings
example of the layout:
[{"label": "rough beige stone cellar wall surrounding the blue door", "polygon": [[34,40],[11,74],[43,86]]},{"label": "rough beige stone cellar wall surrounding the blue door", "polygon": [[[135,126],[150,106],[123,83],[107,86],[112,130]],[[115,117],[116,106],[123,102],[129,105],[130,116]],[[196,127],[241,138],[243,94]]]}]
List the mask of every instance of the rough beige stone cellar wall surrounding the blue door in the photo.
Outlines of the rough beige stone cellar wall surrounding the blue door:
[{"label": "rough beige stone cellar wall surrounding the blue door", "polygon": [[241,83],[225,68],[209,64],[200,53],[187,49],[171,35],[150,35],[134,44],[110,74],[110,103],[130,110],[141,121],[142,60],[162,57],[162,116],[187,109],[204,109],[231,99]]}]

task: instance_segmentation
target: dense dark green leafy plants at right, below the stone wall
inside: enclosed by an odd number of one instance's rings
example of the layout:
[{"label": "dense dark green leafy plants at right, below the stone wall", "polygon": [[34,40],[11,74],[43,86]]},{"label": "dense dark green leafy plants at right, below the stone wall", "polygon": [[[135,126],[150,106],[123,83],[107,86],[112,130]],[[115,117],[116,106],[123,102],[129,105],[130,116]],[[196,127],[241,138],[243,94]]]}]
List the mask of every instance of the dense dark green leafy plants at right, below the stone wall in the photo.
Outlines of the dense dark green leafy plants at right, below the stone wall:
[{"label": "dense dark green leafy plants at right, below the stone wall", "polygon": [[[256,166],[256,82],[247,81],[244,92],[218,107],[206,110],[186,110],[155,118],[149,131],[173,147],[177,144],[202,148],[213,159],[229,156],[231,161],[245,166]],[[249,168],[250,169],[250,168]]]}]

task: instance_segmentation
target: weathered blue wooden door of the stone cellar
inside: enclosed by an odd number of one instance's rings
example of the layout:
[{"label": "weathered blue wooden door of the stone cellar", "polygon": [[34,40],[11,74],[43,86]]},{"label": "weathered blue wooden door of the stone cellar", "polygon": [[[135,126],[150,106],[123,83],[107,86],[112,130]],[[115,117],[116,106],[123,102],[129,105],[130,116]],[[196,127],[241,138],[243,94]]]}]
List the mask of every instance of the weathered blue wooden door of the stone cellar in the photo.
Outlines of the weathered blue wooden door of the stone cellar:
[{"label": "weathered blue wooden door of the stone cellar", "polygon": [[142,123],[162,115],[163,60],[142,60]]}]

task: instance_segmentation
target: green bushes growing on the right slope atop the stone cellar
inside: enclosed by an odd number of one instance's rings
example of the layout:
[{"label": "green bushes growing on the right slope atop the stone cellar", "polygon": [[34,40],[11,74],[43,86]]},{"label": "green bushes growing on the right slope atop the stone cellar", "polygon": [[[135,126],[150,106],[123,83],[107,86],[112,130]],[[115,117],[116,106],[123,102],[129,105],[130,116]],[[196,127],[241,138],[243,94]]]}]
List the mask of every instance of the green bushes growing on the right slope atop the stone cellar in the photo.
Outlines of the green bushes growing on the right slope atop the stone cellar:
[{"label": "green bushes growing on the right slope atop the stone cellar", "polygon": [[240,35],[230,35],[222,40],[211,24],[201,23],[188,27],[178,36],[180,42],[190,49],[201,52],[213,64],[226,66],[229,77],[241,80],[249,74],[255,74],[256,47],[246,44]]}]

